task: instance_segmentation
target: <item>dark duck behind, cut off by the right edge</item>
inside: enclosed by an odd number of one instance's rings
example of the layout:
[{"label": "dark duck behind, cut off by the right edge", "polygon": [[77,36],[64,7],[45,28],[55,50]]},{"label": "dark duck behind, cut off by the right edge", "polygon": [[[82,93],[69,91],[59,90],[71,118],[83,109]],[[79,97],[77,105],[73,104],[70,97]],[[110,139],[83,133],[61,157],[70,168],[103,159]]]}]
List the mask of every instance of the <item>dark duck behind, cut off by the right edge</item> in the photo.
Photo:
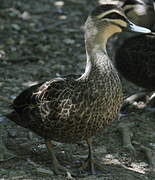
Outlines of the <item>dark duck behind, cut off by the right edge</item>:
[{"label": "dark duck behind, cut off by the right edge", "polygon": [[[121,2],[121,5],[118,4],[123,8],[124,13],[130,20],[137,25],[149,27],[154,31],[155,2],[153,0],[120,0],[119,2]],[[140,11],[143,14],[140,14]],[[144,105],[145,108],[151,102],[152,95],[150,96],[150,94],[155,90],[155,35],[152,32],[135,36],[128,34],[128,38],[123,36],[119,38],[120,43],[115,54],[113,54],[114,64],[126,80],[144,89],[144,93],[137,93],[132,95],[131,98],[125,99],[124,104],[125,106],[127,104],[134,104],[135,101],[145,97],[147,99]]]}]

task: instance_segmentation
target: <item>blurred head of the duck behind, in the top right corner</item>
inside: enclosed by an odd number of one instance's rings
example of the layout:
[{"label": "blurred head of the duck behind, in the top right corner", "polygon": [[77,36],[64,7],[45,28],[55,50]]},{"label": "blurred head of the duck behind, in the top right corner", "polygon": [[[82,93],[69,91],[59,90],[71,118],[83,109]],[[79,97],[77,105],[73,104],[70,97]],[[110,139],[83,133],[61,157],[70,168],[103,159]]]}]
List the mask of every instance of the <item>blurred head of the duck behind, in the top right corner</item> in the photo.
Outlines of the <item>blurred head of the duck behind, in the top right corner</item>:
[{"label": "blurred head of the duck behind, in the top right corner", "polygon": [[153,0],[119,0],[125,15],[135,24],[152,28],[155,25]]}]

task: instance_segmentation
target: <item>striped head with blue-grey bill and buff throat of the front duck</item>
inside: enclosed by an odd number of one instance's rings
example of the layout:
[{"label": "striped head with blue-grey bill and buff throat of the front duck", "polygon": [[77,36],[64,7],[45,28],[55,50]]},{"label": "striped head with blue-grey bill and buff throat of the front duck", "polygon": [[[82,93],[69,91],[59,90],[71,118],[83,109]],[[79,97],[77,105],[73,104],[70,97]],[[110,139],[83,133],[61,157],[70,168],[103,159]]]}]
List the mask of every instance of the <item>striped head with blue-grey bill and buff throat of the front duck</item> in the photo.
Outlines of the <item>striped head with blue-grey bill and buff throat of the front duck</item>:
[{"label": "striped head with blue-grey bill and buff throat of the front duck", "polygon": [[102,47],[106,48],[107,40],[116,33],[126,31],[137,33],[150,33],[147,28],[131,23],[121,8],[116,5],[106,4],[98,6],[92,11],[85,23],[86,47],[89,51]]}]

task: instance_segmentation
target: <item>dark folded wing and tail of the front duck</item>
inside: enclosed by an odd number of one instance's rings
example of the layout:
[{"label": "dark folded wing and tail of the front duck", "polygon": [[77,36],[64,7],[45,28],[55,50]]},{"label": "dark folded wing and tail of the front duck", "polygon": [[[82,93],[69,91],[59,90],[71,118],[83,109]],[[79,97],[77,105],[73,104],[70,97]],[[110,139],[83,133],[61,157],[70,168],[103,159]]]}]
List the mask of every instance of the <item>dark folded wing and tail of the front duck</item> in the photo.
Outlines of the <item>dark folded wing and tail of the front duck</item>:
[{"label": "dark folded wing and tail of the front duck", "polygon": [[52,115],[55,118],[59,99],[65,96],[65,89],[74,84],[75,79],[79,77],[80,75],[68,75],[31,86],[17,96],[13,102],[14,111],[7,117],[18,125],[32,130],[41,124],[41,106],[53,110]]}]

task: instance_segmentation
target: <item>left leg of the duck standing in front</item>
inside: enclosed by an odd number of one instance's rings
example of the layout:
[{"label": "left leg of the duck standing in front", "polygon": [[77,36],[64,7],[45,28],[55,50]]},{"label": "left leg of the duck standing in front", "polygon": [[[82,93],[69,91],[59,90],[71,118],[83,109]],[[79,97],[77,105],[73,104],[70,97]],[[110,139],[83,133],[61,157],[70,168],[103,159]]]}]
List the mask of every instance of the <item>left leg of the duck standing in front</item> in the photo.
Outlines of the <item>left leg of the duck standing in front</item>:
[{"label": "left leg of the duck standing in front", "polygon": [[59,164],[59,162],[54,154],[51,141],[45,140],[45,144],[48,149],[50,158],[52,160],[52,169],[53,169],[54,173],[56,175],[60,175],[60,174],[67,175],[68,174],[67,169]]}]

